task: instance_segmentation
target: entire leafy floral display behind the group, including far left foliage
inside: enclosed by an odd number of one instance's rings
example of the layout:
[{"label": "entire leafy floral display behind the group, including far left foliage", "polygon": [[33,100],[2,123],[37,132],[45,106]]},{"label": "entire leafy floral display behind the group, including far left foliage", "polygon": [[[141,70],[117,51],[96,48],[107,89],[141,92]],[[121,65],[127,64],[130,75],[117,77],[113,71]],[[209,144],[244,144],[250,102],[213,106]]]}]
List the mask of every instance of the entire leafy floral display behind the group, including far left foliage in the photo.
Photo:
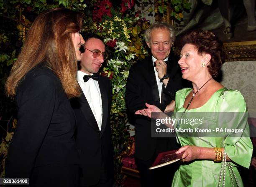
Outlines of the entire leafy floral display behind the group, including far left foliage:
[{"label": "entire leafy floral display behind the group, including far left foliage", "polygon": [[[174,6],[173,18],[180,20],[182,10],[189,8],[187,0],[160,0],[162,3],[156,13],[166,12],[166,3]],[[106,50],[110,54],[101,72],[108,76],[113,85],[113,101],[111,107],[111,129],[114,145],[115,180],[116,185],[121,185],[123,175],[120,174],[121,155],[127,148],[128,126],[125,106],[125,85],[131,64],[147,56],[143,45],[143,32],[150,23],[141,18],[147,12],[153,15],[153,0],[121,0],[120,5],[115,5],[110,0],[0,0],[0,126],[6,124],[5,136],[0,144],[0,178],[3,178],[5,158],[8,146],[12,139],[13,130],[17,121],[12,117],[15,113],[13,102],[6,99],[3,93],[4,84],[11,66],[17,60],[18,52],[23,40],[20,35],[28,30],[36,16],[49,8],[64,6],[71,10],[79,11],[84,15],[85,32],[97,33],[105,38]],[[134,5],[137,5],[136,12]],[[147,8],[146,8],[147,7]],[[22,11],[22,13],[21,13]],[[21,15],[25,18],[20,18]],[[8,110],[7,110],[8,109]],[[4,120],[10,119],[10,120]],[[3,128],[3,127],[2,127]],[[5,129],[4,129],[5,130]]]}]

